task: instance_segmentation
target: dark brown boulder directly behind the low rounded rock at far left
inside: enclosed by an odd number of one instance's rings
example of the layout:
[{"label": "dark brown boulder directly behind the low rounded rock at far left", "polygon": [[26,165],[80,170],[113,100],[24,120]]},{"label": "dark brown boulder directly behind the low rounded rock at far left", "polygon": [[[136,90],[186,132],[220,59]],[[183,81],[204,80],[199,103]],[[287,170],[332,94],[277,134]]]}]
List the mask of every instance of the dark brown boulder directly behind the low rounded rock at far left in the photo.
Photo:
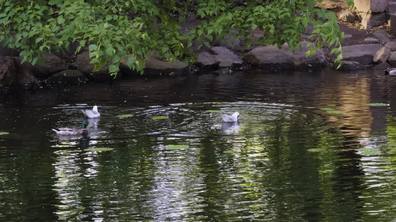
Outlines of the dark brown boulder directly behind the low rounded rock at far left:
[{"label": "dark brown boulder directly behind the low rounded rock at far left", "polygon": [[62,70],[67,70],[69,66],[55,54],[46,54],[43,56],[44,65],[34,65],[33,75],[38,78],[49,77],[50,75]]}]

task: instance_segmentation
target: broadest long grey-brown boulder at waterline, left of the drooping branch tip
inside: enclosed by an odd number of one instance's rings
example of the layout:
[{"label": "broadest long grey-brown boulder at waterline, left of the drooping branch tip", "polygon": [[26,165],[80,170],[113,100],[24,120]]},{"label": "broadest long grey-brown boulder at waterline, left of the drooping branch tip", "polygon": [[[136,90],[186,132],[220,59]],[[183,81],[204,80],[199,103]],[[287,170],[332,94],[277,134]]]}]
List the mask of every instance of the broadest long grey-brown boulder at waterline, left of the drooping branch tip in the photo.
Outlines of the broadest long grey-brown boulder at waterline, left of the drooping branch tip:
[{"label": "broadest long grey-brown boulder at waterline, left of the drooping branch tip", "polygon": [[[301,42],[301,48],[295,53],[288,51],[285,43],[279,49],[276,45],[258,47],[244,56],[244,60],[253,67],[268,70],[287,69],[311,69],[326,65],[324,52],[316,48],[315,45],[307,47],[308,41]],[[313,56],[305,56],[305,52],[311,47],[315,47],[317,53]]]}]

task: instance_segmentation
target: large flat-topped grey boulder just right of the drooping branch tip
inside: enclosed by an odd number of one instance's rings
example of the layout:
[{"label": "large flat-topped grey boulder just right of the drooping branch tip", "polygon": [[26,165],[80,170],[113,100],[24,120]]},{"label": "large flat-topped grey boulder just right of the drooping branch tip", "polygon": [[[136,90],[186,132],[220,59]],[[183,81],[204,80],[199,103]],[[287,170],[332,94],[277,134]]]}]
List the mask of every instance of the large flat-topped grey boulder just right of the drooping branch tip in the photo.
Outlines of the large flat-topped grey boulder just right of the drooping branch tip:
[{"label": "large flat-topped grey boulder just right of the drooping branch tip", "polygon": [[[374,55],[382,47],[383,46],[379,44],[344,46],[342,50],[343,60],[360,62],[363,65],[373,65]],[[338,55],[336,53],[331,54],[331,60],[334,60],[335,58],[337,58],[337,56]]]}]

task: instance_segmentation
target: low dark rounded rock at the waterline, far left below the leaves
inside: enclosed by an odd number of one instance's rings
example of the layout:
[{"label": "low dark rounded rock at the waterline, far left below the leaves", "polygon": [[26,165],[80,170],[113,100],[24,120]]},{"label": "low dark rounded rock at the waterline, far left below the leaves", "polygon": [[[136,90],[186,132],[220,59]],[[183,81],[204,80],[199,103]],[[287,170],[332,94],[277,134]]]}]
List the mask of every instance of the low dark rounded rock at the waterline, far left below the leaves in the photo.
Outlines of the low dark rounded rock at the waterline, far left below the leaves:
[{"label": "low dark rounded rock at the waterline, far left below the leaves", "polygon": [[85,75],[78,70],[65,70],[51,75],[46,79],[47,83],[51,84],[70,84],[77,85],[86,81]]}]

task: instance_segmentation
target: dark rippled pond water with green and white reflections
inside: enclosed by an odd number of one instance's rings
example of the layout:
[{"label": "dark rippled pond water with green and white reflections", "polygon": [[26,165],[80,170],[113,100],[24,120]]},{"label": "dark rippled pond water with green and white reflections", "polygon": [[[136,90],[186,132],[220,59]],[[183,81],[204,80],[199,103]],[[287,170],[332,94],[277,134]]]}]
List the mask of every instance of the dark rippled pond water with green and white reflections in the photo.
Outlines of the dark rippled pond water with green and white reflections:
[{"label": "dark rippled pond water with green and white reflections", "polygon": [[[0,221],[395,221],[395,91],[382,71],[257,70],[6,96]],[[87,136],[51,130],[93,105]]]}]

